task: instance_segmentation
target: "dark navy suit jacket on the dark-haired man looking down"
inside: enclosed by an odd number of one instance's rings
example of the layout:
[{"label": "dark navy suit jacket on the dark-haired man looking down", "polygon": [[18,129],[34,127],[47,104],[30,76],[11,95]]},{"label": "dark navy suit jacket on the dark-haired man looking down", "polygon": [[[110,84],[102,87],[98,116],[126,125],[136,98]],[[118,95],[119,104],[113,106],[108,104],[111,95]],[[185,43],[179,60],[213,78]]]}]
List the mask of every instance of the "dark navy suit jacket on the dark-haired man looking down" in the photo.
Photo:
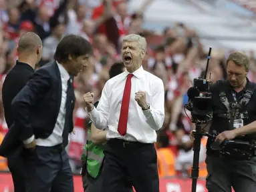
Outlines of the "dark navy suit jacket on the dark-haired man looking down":
[{"label": "dark navy suit jacket on the dark-haired man looking down", "polygon": [[[72,87],[72,89],[74,88]],[[71,132],[74,127],[72,115],[75,95],[73,94],[72,98],[69,99],[72,101],[69,103],[69,105],[72,105],[70,107],[72,111],[66,111],[69,115],[66,123],[69,123],[69,132]],[[7,140],[7,136],[13,139],[14,136],[11,132],[17,133],[17,129],[19,129],[19,139],[21,141],[32,135],[41,139],[49,137],[57,121],[60,103],[61,77],[57,63],[52,62],[37,69],[25,87],[13,99],[11,110],[13,111],[14,125],[10,128],[9,135],[6,135],[4,141]],[[11,154],[15,147],[15,141],[9,142],[5,150],[1,151],[0,148],[0,155],[7,156],[6,154]]]}]

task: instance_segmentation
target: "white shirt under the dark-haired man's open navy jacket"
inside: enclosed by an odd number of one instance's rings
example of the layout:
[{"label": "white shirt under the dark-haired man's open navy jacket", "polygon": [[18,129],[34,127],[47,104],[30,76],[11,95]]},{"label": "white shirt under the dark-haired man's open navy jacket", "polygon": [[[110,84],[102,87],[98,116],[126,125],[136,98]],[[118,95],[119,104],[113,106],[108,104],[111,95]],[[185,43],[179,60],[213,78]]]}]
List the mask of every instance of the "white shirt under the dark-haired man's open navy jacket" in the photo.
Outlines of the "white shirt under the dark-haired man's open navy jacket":
[{"label": "white shirt under the dark-haired man's open navy jacket", "polygon": [[61,144],[63,140],[62,133],[65,124],[67,89],[70,75],[61,64],[57,63],[57,67],[59,67],[59,73],[61,77],[61,104],[59,108],[59,114],[57,115],[57,121],[51,135],[49,135],[49,137],[46,139],[36,139],[37,145],[44,147],[52,147]]}]

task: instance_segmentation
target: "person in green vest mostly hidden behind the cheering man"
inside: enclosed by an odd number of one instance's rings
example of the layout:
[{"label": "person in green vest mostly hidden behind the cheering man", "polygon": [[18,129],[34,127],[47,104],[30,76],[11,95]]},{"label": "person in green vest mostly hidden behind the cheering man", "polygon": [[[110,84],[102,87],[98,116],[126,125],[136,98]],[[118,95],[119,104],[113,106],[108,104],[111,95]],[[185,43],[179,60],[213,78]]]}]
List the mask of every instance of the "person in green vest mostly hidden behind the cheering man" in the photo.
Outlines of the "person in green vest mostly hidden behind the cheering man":
[{"label": "person in green vest mostly hidden behind the cheering man", "polygon": [[[114,63],[109,71],[110,79],[124,72],[124,63]],[[98,101],[94,103],[97,107]],[[90,129],[88,130],[88,141],[84,146],[84,151],[82,154],[82,177],[83,186],[85,192],[100,192],[102,187],[102,170],[104,169],[104,144],[106,143],[106,135],[108,130],[100,130],[92,124],[89,123]],[[123,190],[120,192],[131,192],[133,191],[130,180],[128,177],[126,179],[126,185],[124,185]]]}]

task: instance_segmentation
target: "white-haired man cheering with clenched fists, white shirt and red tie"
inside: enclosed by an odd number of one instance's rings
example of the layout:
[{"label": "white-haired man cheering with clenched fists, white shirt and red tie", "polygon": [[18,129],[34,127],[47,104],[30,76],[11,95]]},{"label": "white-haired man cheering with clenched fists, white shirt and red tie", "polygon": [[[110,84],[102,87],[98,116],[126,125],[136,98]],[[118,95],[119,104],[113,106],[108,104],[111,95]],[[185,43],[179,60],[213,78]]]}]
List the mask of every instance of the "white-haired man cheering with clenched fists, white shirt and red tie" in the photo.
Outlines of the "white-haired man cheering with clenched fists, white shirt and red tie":
[{"label": "white-haired man cheering with clenched fists, white shirt and red tie", "polygon": [[159,191],[153,143],[156,130],[164,122],[164,85],[161,79],[144,71],[145,54],[144,37],[124,37],[122,59],[126,71],[106,82],[97,109],[93,105],[94,94],[84,95],[94,125],[109,129],[102,192],[122,191],[127,173],[137,192]]}]

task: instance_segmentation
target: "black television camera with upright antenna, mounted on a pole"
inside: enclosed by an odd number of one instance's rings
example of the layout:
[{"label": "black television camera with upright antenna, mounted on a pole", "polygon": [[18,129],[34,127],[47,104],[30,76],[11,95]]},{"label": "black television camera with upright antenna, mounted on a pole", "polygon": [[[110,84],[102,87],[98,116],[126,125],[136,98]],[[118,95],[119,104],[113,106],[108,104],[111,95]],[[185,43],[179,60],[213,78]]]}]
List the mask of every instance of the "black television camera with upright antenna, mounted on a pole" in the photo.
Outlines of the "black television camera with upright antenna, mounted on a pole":
[{"label": "black television camera with upright antenna, mounted on a pole", "polygon": [[[191,112],[191,122],[195,123],[196,129],[193,131],[195,141],[193,145],[194,157],[192,167],[192,192],[197,191],[197,179],[199,177],[199,152],[201,146],[201,137],[207,133],[203,133],[203,126],[213,118],[213,109],[211,105],[211,77],[207,79],[207,71],[209,68],[209,61],[211,59],[211,50],[209,49],[207,57],[207,67],[204,77],[198,77],[193,80],[193,87],[187,91],[188,103],[184,106],[185,109]],[[207,135],[208,136],[208,135]]]}]

